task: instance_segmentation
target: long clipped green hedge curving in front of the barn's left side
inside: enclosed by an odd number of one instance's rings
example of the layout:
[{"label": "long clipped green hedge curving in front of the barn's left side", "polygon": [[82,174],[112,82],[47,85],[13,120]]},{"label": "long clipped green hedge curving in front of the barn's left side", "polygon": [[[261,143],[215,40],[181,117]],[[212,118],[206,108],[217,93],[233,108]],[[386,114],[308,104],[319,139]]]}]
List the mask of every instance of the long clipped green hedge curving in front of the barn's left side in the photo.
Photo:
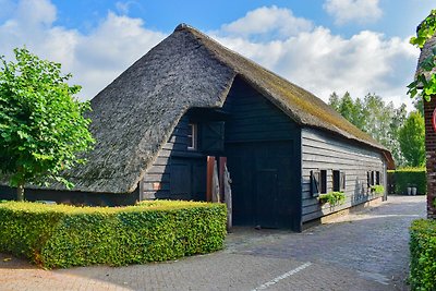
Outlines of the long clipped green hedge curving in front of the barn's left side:
[{"label": "long clipped green hedge curving in front of the barn's left side", "polygon": [[223,204],[149,202],[128,207],[0,204],[0,252],[45,268],[120,266],[222,248]]}]

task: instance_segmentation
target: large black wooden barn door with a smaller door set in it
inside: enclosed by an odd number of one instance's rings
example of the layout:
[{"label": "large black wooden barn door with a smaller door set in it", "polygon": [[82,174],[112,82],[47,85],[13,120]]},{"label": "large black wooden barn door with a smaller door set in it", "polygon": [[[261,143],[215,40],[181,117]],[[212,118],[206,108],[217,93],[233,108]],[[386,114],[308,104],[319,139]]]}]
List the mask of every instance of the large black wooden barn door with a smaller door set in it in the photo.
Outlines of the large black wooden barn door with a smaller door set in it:
[{"label": "large black wooden barn door with a smaller door set in it", "polygon": [[235,225],[292,228],[298,219],[298,162],[292,142],[226,145]]}]

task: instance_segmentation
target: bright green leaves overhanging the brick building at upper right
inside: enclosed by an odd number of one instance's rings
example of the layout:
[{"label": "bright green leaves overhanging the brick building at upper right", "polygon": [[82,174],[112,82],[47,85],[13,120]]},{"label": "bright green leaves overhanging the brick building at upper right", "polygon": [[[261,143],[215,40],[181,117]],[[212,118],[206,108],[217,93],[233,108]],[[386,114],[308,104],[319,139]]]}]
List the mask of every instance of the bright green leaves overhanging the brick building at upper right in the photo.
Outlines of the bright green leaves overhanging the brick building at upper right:
[{"label": "bright green leaves overhanging the brick building at upper right", "polygon": [[[410,44],[423,48],[425,43],[435,35],[436,32],[436,10],[421,23],[416,36],[410,39]],[[408,85],[408,94],[413,98],[416,95],[429,101],[431,96],[436,94],[436,74],[432,71],[436,66],[436,48],[432,53],[420,63],[420,70],[415,80]],[[429,74],[426,76],[426,74]]]}]

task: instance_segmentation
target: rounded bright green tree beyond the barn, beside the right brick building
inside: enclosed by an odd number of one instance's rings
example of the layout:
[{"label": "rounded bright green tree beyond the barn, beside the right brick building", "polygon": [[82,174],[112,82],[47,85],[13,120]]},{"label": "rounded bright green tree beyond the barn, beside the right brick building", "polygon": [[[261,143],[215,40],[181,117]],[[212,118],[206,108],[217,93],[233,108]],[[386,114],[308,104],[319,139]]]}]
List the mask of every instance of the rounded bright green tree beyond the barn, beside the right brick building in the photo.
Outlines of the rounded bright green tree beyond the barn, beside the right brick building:
[{"label": "rounded bright green tree beyond the barn, beside the right brick building", "polygon": [[399,131],[399,142],[408,166],[425,166],[425,124],[420,111],[409,114]]}]

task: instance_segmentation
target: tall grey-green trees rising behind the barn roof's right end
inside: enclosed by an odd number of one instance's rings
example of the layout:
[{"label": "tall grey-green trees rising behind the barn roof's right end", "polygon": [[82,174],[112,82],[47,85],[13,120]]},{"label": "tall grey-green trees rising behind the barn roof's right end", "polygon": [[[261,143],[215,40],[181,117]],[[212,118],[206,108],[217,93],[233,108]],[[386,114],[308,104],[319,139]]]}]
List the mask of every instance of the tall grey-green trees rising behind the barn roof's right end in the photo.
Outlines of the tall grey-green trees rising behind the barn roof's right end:
[{"label": "tall grey-green trees rising behind the barn roof's right end", "polygon": [[397,166],[407,165],[398,141],[399,130],[407,117],[405,105],[396,108],[375,94],[353,100],[349,93],[330,95],[329,105],[358,129],[370,134],[392,153]]}]

